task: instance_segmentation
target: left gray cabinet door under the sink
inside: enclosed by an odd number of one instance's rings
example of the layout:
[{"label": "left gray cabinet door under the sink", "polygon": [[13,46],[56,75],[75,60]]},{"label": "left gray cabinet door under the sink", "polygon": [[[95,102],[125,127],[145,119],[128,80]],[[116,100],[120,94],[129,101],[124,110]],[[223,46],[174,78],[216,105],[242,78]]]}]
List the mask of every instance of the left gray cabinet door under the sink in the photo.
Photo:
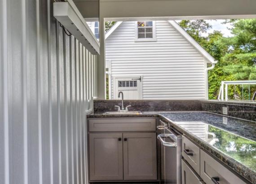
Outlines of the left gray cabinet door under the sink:
[{"label": "left gray cabinet door under the sink", "polygon": [[90,180],[123,180],[122,133],[89,134]]}]

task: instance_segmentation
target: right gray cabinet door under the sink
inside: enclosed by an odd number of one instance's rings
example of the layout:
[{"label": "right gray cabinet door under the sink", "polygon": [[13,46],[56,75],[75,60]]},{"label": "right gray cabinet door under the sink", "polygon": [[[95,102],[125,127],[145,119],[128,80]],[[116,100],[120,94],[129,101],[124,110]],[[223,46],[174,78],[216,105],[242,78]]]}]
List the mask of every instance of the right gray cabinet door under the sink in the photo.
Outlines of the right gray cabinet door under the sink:
[{"label": "right gray cabinet door under the sink", "polygon": [[156,134],[124,133],[124,180],[157,180]]}]

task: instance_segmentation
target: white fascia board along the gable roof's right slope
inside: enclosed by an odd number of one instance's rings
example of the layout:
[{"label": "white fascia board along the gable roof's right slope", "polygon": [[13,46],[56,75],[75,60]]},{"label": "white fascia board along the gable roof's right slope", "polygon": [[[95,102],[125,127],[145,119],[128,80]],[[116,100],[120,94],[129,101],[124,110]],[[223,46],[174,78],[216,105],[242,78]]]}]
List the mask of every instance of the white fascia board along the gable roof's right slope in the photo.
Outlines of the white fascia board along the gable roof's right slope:
[{"label": "white fascia board along the gable roof's right slope", "polygon": [[181,26],[179,26],[179,24],[175,21],[168,21],[177,31],[179,31],[181,33],[181,35],[183,35],[185,37],[186,40],[188,40],[188,42],[190,42],[190,44],[192,44],[198,51],[199,53],[201,53],[205,59],[207,61],[210,61],[210,63],[212,64],[216,64],[218,61],[216,61],[209,53],[207,53],[206,50],[204,50],[204,48],[199,45],[184,29],[182,29]]}]

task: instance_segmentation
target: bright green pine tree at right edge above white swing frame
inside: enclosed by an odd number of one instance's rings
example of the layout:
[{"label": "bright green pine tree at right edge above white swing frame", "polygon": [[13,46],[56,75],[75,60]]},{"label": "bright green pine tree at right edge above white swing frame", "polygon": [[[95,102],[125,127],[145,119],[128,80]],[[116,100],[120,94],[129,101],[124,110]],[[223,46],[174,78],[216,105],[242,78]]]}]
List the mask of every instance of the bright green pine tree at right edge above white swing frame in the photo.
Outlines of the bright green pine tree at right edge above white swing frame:
[{"label": "bright green pine tree at right edge above white swing frame", "polygon": [[230,20],[233,37],[222,38],[218,44],[229,47],[223,57],[229,65],[225,72],[232,74],[236,80],[256,79],[256,19]]}]

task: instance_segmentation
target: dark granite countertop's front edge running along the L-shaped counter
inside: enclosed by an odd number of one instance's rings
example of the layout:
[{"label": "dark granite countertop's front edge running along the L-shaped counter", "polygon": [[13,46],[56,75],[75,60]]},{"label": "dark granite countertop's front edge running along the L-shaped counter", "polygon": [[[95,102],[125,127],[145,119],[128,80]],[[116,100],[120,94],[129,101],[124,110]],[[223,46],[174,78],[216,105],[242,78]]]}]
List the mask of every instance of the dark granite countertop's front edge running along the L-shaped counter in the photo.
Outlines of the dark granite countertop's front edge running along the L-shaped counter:
[{"label": "dark granite countertop's front edge running along the L-shaped counter", "polygon": [[196,144],[198,144],[201,147],[201,149],[211,154],[223,165],[227,166],[232,171],[242,176],[244,179],[248,180],[249,182],[256,184],[255,171],[252,171],[247,166],[244,166],[242,163],[236,161],[234,158],[231,158],[230,156],[226,155],[220,150],[214,148],[212,145],[208,144],[207,142],[200,140],[199,137],[194,136],[194,134],[190,133],[189,131],[186,131],[184,128],[172,122],[172,120],[170,120],[169,118],[166,118],[162,114],[148,113],[148,114],[88,114],[87,115],[87,118],[138,118],[138,117],[155,117],[155,118],[159,117],[162,120],[166,121],[167,123],[170,123],[171,127],[181,132],[183,135],[189,137]]}]

